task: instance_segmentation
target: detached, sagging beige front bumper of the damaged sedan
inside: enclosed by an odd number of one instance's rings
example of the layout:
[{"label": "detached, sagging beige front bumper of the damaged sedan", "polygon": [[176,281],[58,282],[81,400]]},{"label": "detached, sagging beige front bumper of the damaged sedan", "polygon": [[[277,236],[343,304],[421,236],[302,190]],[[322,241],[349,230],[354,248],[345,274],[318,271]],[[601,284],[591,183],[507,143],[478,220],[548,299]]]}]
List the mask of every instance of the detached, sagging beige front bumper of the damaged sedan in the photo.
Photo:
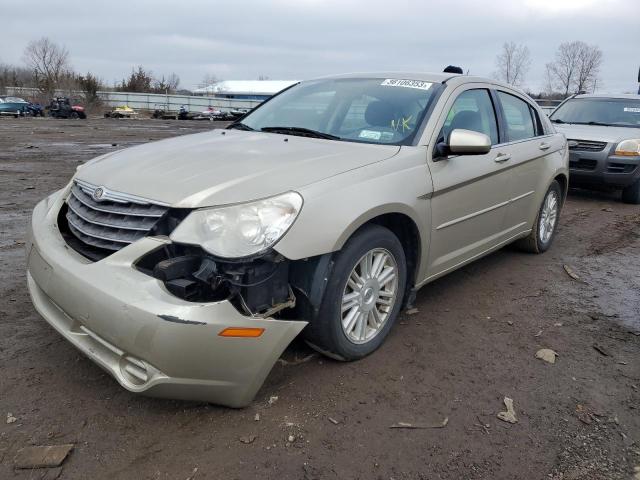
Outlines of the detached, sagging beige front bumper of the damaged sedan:
[{"label": "detached, sagging beige front bumper of the damaged sedan", "polygon": [[[36,310],[131,392],[230,407],[251,402],[273,364],[306,326],[246,317],[228,301],[193,303],[133,267],[167,239],[143,238],[95,263],[56,225],[63,195],[40,202],[29,238],[28,286]],[[259,327],[258,338],[218,334]]]}]

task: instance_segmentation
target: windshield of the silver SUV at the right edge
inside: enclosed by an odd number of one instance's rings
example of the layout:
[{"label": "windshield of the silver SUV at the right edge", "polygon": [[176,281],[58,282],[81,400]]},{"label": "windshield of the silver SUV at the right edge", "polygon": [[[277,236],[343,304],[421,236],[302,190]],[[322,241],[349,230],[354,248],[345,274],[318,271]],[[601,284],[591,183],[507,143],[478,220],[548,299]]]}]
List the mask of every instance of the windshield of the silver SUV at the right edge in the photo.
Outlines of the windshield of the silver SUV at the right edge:
[{"label": "windshield of the silver SUV at the right edge", "polygon": [[640,97],[574,98],[551,115],[555,123],[640,127]]}]

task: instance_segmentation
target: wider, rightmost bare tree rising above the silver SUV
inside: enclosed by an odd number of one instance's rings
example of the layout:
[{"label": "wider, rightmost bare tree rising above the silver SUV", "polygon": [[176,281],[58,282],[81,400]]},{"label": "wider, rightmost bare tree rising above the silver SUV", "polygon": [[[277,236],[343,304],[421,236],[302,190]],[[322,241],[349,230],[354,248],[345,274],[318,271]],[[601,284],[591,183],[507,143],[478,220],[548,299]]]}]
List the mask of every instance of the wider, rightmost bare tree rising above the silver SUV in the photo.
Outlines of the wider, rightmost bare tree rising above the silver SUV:
[{"label": "wider, rightmost bare tree rising above the silver SUV", "polygon": [[602,51],[584,42],[565,42],[556,51],[555,61],[547,64],[551,82],[565,96],[595,86],[602,65]]}]

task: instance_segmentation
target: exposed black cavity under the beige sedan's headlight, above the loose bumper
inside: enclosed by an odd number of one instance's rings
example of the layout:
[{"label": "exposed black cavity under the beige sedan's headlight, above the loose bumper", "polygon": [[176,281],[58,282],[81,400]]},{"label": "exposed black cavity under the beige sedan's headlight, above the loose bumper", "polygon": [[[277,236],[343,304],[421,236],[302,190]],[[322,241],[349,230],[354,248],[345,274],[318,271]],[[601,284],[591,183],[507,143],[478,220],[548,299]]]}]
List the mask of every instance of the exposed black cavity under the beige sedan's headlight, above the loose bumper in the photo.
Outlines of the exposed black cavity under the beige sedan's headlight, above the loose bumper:
[{"label": "exposed black cavity under the beige sedan's headlight, above the loose bumper", "polygon": [[169,244],[141,257],[135,267],[183,300],[229,300],[244,315],[266,318],[295,308],[290,263],[276,252],[228,261],[199,247]]}]

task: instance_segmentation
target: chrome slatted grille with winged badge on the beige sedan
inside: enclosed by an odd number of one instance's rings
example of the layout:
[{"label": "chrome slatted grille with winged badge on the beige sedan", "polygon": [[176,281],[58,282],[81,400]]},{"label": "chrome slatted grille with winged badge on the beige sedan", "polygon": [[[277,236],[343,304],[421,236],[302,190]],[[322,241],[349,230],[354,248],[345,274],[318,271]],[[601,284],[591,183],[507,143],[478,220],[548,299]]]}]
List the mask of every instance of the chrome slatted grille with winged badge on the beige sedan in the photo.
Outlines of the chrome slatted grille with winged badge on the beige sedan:
[{"label": "chrome slatted grille with winged badge on the beige sedan", "polygon": [[69,230],[92,247],[117,251],[146,236],[169,207],[76,180],[67,198]]}]

